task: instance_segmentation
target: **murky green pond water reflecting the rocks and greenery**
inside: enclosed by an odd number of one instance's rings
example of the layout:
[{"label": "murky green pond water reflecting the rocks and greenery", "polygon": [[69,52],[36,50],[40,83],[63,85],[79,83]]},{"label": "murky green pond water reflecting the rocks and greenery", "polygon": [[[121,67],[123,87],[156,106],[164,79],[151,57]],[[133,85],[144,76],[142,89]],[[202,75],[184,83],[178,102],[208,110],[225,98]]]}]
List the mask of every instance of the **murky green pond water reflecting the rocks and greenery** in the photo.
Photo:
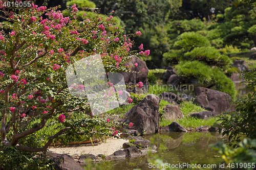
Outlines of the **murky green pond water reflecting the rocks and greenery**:
[{"label": "murky green pond water reflecting the rocks and greenery", "polygon": [[[157,156],[163,163],[167,163],[168,166],[174,167],[179,164],[197,164],[197,167],[210,167],[201,169],[230,169],[222,168],[224,163],[223,159],[216,154],[215,151],[211,151],[209,144],[216,143],[225,137],[222,137],[218,132],[168,132],[157,133],[154,135],[144,136],[145,139],[151,140],[156,144]],[[147,159],[156,159],[152,155],[144,155],[135,158],[126,158],[122,160],[111,160],[99,163],[104,169],[154,169],[150,168],[151,164],[148,164]],[[216,167],[215,167],[216,166]],[[86,169],[86,167],[84,167]],[[186,169],[185,166],[181,169]],[[191,168],[188,168],[191,169]],[[198,169],[198,168],[193,168]]]}]

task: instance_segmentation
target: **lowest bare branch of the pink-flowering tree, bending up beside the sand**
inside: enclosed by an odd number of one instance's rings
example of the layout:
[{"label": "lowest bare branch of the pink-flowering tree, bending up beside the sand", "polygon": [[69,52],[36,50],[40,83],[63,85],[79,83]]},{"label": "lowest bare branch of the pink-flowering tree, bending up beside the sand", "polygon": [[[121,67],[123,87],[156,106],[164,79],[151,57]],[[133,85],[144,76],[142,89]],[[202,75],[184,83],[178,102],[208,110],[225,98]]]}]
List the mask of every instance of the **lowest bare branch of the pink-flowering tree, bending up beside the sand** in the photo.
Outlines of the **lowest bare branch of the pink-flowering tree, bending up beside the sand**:
[{"label": "lowest bare branch of the pink-flowering tree, bending up beside the sand", "polygon": [[41,148],[31,148],[31,147],[25,147],[25,146],[20,146],[17,145],[16,148],[18,150],[22,150],[22,151],[29,151],[29,152],[41,152],[41,151],[47,151],[47,148],[50,146],[50,144],[52,143],[53,139],[55,139],[56,137],[58,137],[59,135],[61,135],[63,132],[69,130],[71,127],[67,127],[64,129],[61,129],[58,133],[50,136],[49,141],[44,145],[44,147]]}]

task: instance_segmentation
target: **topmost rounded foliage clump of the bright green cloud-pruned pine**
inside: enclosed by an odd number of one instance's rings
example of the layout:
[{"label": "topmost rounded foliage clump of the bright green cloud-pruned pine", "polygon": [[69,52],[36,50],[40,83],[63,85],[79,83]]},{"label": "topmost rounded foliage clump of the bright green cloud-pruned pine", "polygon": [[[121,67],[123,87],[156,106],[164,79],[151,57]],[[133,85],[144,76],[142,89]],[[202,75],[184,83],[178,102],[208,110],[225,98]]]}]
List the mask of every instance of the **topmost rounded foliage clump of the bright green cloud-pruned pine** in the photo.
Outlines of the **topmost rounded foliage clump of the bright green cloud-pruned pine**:
[{"label": "topmost rounded foliage clump of the bright green cloud-pruned pine", "polygon": [[193,50],[195,47],[209,46],[209,41],[202,35],[194,32],[185,32],[178,37],[174,47],[182,49],[183,52]]}]

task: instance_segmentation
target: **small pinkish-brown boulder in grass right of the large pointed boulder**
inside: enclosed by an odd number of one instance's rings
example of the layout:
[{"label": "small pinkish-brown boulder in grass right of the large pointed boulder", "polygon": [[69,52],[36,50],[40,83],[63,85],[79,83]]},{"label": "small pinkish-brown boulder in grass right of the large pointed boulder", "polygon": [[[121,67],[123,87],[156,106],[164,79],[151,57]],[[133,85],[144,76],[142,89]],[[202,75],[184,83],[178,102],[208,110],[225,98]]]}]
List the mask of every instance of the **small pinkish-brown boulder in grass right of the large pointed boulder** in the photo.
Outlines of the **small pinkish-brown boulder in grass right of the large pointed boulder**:
[{"label": "small pinkish-brown boulder in grass right of the large pointed boulder", "polygon": [[163,110],[165,111],[164,118],[166,120],[177,120],[177,119],[184,118],[183,113],[181,112],[179,106],[177,105],[166,105],[163,108]]}]

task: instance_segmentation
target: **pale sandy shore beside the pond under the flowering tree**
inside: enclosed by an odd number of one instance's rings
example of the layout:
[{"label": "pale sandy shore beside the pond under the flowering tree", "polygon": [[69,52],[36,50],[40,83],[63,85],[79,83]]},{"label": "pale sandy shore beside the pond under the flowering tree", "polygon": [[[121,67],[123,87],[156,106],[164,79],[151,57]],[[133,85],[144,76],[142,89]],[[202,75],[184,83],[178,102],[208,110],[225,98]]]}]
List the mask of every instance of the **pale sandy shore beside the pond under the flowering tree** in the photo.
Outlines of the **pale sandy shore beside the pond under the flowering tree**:
[{"label": "pale sandy shore beside the pond under the flowering tree", "polygon": [[98,154],[103,154],[105,156],[113,154],[115,151],[118,151],[122,148],[123,143],[128,142],[129,140],[117,139],[117,138],[108,138],[106,142],[101,142],[97,146],[79,146],[79,147],[61,147],[54,148],[50,147],[49,151],[58,153],[58,154],[69,154],[72,157],[77,157],[82,154],[93,154],[97,156]]}]

